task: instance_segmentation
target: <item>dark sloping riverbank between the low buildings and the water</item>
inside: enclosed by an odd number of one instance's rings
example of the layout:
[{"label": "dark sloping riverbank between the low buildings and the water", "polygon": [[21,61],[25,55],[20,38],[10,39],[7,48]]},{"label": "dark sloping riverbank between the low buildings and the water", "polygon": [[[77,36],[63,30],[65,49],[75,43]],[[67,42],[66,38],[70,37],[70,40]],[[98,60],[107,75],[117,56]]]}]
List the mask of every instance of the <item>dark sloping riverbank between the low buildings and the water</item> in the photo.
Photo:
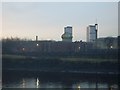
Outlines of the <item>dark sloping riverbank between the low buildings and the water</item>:
[{"label": "dark sloping riverbank between the low buildings and the water", "polygon": [[2,59],[3,71],[118,73],[118,60],[112,58],[3,55]]}]

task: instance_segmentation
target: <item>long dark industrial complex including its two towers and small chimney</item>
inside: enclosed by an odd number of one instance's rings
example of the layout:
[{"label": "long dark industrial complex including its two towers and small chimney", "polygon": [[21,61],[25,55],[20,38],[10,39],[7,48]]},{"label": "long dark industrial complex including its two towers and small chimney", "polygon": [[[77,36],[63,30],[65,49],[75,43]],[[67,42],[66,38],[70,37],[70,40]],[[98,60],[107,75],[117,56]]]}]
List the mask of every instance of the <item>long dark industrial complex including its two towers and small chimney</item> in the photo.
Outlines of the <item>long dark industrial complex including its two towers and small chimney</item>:
[{"label": "long dark industrial complex including its two towers and small chimney", "polygon": [[97,38],[98,24],[89,25],[87,27],[87,42],[75,41],[72,42],[72,26],[64,27],[62,41],[39,40],[38,36],[35,41],[26,41],[20,39],[6,39],[2,41],[2,53],[17,53],[17,54],[91,54],[101,50],[117,50],[118,37]]}]

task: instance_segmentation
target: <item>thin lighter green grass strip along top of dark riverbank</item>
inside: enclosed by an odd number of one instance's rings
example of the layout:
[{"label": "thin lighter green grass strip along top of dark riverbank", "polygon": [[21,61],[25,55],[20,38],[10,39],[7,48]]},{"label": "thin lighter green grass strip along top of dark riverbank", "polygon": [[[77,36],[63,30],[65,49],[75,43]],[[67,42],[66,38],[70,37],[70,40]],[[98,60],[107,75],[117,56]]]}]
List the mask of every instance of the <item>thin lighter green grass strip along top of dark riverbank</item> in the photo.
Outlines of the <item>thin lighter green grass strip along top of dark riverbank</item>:
[{"label": "thin lighter green grass strip along top of dark riverbank", "polygon": [[[26,56],[22,55],[2,55],[3,59],[15,59],[15,60],[27,60],[28,58]],[[92,57],[37,57],[39,60],[61,60],[61,61],[67,61],[67,62],[89,62],[89,63],[101,63],[101,62],[112,62],[117,63],[117,59],[107,59],[107,58],[92,58]]]}]

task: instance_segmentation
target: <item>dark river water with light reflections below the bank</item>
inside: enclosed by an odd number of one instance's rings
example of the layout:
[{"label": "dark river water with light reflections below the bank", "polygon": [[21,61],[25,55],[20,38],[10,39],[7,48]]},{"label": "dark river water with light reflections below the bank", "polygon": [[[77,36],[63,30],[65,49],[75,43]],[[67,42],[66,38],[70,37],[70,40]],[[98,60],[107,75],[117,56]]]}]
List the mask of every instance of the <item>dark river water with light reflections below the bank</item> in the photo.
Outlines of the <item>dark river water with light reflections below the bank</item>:
[{"label": "dark river water with light reflections below the bank", "polygon": [[[24,72],[21,72],[24,73]],[[47,74],[47,75],[46,75]],[[12,73],[3,76],[3,88],[59,88],[65,90],[83,90],[84,88],[103,88],[104,90],[118,90],[117,81],[114,77],[84,76],[84,75],[55,75],[49,73],[19,74]],[[8,89],[9,90],[9,89]]]}]

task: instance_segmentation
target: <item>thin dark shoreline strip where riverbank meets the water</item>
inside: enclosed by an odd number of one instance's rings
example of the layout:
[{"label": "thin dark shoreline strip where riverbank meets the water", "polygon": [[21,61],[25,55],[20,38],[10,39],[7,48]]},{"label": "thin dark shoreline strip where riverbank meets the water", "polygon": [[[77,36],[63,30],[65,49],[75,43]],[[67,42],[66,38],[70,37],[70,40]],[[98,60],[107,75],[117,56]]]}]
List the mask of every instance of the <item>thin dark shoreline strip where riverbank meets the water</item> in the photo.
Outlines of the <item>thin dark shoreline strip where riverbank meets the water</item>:
[{"label": "thin dark shoreline strip where riverbank meets the water", "polygon": [[100,72],[100,71],[40,71],[40,70],[31,70],[31,69],[6,69],[2,71],[4,73],[16,73],[16,72],[25,72],[25,73],[53,73],[53,74],[78,74],[78,75],[119,75],[119,72]]}]

